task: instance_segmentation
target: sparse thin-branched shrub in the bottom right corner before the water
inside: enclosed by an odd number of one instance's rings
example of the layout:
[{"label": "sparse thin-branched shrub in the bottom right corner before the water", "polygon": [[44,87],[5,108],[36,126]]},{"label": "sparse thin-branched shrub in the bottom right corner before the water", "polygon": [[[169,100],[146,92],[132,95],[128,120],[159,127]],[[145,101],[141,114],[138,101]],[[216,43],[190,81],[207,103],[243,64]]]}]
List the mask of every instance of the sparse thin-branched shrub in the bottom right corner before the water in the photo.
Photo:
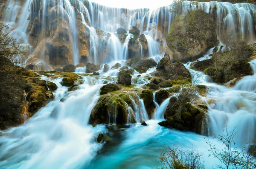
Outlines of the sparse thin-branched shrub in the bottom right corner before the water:
[{"label": "sparse thin-branched shrub in the bottom right corner before the water", "polygon": [[228,131],[228,127],[225,127],[222,135],[214,136],[219,142],[224,145],[223,149],[217,148],[215,144],[212,144],[207,138],[207,144],[209,145],[208,151],[213,157],[217,158],[221,164],[216,165],[220,169],[255,169],[256,161],[253,156],[250,155],[249,149],[243,147],[242,151],[239,151],[235,146],[234,138],[236,137],[235,129],[232,132]]}]

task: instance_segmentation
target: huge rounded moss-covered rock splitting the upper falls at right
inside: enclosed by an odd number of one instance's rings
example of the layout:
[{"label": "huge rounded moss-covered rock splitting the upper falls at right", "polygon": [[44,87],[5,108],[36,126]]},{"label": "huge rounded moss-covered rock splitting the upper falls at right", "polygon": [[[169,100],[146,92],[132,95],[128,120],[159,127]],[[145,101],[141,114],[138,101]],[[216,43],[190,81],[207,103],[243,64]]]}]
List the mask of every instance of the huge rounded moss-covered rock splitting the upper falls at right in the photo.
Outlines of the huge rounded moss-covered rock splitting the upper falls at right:
[{"label": "huge rounded moss-covered rock splitting the upper falls at right", "polygon": [[191,11],[186,17],[177,17],[166,36],[172,61],[188,62],[203,56],[217,43],[215,27],[210,15],[201,9]]}]

